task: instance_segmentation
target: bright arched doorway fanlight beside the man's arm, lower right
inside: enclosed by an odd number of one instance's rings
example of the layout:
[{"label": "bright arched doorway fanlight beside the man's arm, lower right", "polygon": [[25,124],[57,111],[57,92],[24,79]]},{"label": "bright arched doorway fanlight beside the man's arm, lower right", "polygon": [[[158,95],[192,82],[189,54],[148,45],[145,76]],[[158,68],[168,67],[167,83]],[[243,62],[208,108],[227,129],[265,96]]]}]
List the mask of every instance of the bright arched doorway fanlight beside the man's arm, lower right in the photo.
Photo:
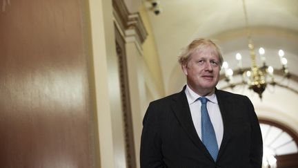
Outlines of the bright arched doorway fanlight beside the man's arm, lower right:
[{"label": "bright arched doorway fanlight beside the man's arm, lower right", "polygon": [[298,135],[285,124],[260,119],[264,142],[263,167],[298,167]]}]

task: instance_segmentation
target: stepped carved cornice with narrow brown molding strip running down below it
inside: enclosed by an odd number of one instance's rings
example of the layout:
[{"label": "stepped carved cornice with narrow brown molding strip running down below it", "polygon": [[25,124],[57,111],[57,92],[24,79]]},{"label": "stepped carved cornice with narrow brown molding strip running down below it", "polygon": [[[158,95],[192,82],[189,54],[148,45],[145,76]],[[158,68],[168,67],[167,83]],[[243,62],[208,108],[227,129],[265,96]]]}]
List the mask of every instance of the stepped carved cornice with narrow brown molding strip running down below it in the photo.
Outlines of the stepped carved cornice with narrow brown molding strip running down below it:
[{"label": "stepped carved cornice with narrow brown molding strip running down below it", "polygon": [[132,110],[130,106],[130,87],[128,84],[126,43],[133,41],[139,52],[142,53],[141,44],[143,44],[148,34],[139,13],[131,14],[123,0],[112,0],[112,6],[115,24],[116,51],[119,62],[126,163],[127,167],[137,167],[134,131],[132,127]]}]

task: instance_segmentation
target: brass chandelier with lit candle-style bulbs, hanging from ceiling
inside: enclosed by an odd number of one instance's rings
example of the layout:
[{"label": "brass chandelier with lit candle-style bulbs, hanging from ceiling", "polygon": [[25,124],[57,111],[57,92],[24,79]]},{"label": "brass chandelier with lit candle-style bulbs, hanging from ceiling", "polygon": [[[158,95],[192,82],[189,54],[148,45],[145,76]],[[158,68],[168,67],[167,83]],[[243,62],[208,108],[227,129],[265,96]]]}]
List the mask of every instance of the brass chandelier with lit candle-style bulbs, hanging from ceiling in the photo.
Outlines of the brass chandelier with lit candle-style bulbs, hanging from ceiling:
[{"label": "brass chandelier with lit candle-style bulbs, hanging from ceiling", "polygon": [[[272,68],[272,66],[268,66],[266,64],[266,57],[264,56],[264,53],[265,53],[264,48],[259,48],[259,54],[260,54],[262,65],[257,66],[256,55],[255,55],[255,46],[254,46],[252,38],[251,38],[250,27],[248,26],[248,15],[246,12],[246,3],[245,3],[245,0],[242,0],[242,2],[243,2],[243,8],[244,8],[246,30],[247,30],[247,35],[248,35],[248,49],[249,49],[250,59],[251,59],[252,64],[251,64],[250,68],[243,68],[242,62],[241,62],[241,55],[240,55],[240,53],[237,53],[237,55],[236,55],[236,59],[238,61],[237,75],[242,75],[241,76],[241,79],[242,79],[241,84],[248,85],[248,88],[252,89],[252,91],[255,91],[255,93],[257,93],[261,99],[262,93],[265,91],[266,86],[268,84],[271,84],[273,86],[276,84],[274,76],[273,76],[274,68]],[[288,71],[287,59],[286,59],[286,57],[284,57],[284,51],[279,50],[278,55],[279,55],[279,59],[281,61],[281,71],[283,72],[284,77],[289,78],[290,73]],[[228,68],[227,62],[224,62],[223,68],[224,68],[225,75],[226,75],[226,82],[228,82],[229,86],[231,88],[233,88],[235,86],[235,84],[232,83],[233,71],[231,68]]]}]

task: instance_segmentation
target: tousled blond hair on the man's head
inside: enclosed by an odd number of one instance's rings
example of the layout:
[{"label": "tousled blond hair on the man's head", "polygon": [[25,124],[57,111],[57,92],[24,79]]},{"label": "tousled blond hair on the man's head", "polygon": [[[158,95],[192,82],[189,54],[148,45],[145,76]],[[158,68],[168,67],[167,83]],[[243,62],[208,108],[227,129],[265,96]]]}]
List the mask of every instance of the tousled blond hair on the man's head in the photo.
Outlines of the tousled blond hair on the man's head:
[{"label": "tousled blond hair on the man's head", "polygon": [[212,54],[215,54],[219,57],[219,65],[222,66],[224,62],[224,58],[221,55],[221,50],[219,49],[219,46],[215,44],[211,39],[204,39],[199,38],[192,41],[185,50],[179,55],[178,62],[181,64],[181,66],[188,64],[188,61],[190,60],[190,56],[195,51],[201,51],[205,50],[206,48],[210,49]]}]

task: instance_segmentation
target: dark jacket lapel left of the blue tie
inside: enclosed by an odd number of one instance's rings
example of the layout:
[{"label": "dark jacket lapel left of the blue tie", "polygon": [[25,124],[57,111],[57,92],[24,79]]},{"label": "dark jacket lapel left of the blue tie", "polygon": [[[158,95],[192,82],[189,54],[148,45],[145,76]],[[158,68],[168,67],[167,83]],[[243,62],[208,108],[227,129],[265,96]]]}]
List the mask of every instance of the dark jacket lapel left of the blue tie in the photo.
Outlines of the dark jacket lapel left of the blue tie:
[{"label": "dark jacket lapel left of the blue tie", "polygon": [[195,125],[192,122],[192,117],[190,114],[188,100],[184,93],[185,88],[186,87],[184,86],[183,91],[178,93],[177,97],[173,97],[172,111],[174,111],[177,120],[181,124],[181,127],[184,129],[184,131],[186,131],[190,140],[192,140],[192,142],[199,147],[199,149],[201,149],[201,151],[203,151],[210,160],[213,160],[203,142],[201,142],[199,136],[197,135],[197,131],[195,130]]}]

